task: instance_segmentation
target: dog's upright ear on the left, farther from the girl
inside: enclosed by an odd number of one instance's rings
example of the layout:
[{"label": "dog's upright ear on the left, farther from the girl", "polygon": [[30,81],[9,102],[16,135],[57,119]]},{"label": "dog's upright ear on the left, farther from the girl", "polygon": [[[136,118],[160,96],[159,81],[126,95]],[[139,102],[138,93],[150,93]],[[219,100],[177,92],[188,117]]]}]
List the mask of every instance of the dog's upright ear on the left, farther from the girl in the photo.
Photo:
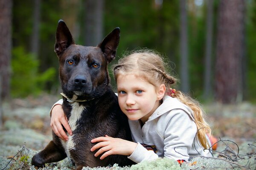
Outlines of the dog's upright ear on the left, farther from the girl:
[{"label": "dog's upright ear on the left, farther from the girl", "polygon": [[58,27],[56,30],[56,42],[54,45],[54,51],[57,55],[63,53],[71,44],[75,44],[73,37],[67,28],[66,23],[63,20],[58,21]]}]

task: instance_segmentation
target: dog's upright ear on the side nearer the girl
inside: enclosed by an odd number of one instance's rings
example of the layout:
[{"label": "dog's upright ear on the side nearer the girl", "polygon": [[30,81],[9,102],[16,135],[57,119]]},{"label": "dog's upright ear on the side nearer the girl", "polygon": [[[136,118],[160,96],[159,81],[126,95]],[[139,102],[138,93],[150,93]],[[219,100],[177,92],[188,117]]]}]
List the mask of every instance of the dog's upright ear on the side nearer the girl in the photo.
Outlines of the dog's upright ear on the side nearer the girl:
[{"label": "dog's upright ear on the side nearer the girl", "polygon": [[119,39],[120,28],[115,28],[101,43],[99,43],[99,45],[97,45],[102,49],[102,52],[105,54],[108,62],[111,62],[116,57],[116,49],[119,45]]}]

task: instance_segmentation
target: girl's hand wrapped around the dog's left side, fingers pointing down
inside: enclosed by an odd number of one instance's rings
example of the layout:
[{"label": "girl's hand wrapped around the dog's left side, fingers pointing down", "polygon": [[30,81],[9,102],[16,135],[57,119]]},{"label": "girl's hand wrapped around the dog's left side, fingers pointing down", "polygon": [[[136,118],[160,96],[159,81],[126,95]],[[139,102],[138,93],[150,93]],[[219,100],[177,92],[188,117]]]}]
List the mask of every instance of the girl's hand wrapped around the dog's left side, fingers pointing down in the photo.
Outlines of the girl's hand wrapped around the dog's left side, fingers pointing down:
[{"label": "girl's hand wrapped around the dog's left side, fingers pointing down", "polygon": [[62,105],[55,105],[52,108],[52,117],[51,117],[51,127],[53,132],[60,137],[61,139],[67,141],[68,137],[65,131],[62,128],[62,125],[67,130],[67,132],[72,135],[72,130],[67,122],[67,117],[65,116]]}]

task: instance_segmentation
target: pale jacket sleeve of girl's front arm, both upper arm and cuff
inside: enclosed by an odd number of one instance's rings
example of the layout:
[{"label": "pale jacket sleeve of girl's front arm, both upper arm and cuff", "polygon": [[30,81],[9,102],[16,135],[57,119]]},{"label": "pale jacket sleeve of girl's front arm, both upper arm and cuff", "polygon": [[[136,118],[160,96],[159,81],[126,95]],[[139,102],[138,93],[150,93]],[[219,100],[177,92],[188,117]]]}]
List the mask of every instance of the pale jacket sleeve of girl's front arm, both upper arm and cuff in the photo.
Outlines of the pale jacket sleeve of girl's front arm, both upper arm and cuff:
[{"label": "pale jacket sleeve of girl's front arm, both upper arm and cuff", "polygon": [[[164,157],[175,160],[189,160],[189,150],[192,147],[197,127],[190,116],[181,109],[172,110],[164,130]],[[163,127],[164,128],[164,127]],[[144,160],[157,159],[159,156],[152,150],[147,150],[140,143],[128,159],[139,163]]]}]

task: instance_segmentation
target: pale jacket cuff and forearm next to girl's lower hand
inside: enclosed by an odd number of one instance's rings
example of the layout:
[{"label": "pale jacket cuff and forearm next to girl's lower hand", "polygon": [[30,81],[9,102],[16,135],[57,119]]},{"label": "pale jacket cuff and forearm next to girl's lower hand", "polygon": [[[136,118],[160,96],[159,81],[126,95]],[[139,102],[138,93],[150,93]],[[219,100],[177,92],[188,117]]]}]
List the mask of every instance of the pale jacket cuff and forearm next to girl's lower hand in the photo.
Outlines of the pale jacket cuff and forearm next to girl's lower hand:
[{"label": "pale jacket cuff and forearm next to girl's lower hand", "polygon": [[135,148],[134,152],[130,156],[128,156],[128,159],[131,159],[136,163],[139,163],[144,160],[154,160],[157,158],[159,157],[156,153],[154,153],[154,151],[147,150],[140,143],[137,143],[137,147]]}]

